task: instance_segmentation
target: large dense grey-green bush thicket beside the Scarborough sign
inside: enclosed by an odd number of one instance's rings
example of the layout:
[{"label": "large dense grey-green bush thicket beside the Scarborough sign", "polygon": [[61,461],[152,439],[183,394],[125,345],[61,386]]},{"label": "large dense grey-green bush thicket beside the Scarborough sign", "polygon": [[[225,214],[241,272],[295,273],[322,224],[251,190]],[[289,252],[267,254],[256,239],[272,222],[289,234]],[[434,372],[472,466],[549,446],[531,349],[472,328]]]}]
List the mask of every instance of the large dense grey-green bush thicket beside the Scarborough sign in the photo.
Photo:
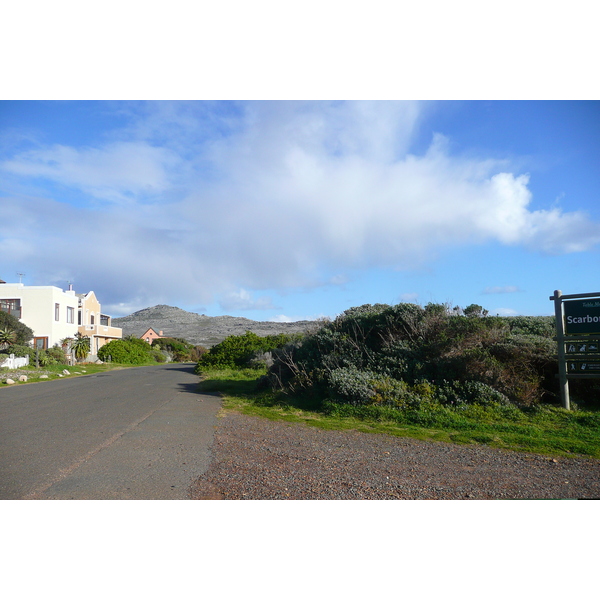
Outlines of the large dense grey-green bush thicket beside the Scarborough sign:
[{"label": "large dense grey-green bush thicket beside the Scarborough sign", "polygon": [[356,406],[534,406],[558,390],[553,327],[476,304],[367,304],[274,351],[268,380]]}]

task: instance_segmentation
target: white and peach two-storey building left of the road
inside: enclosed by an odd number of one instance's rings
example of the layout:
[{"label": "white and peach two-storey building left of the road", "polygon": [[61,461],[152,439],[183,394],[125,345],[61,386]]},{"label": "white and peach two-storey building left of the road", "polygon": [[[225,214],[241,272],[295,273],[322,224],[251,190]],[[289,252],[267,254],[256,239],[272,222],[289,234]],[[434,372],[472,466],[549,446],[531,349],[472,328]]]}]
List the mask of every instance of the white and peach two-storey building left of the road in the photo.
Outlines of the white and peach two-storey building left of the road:
[{"label": "white and peach two-storey building left of the road", "polygon": [[95,355],[105,343],[122,337],[122,330],[112,327],[111,318],[101,313],[94,292],[76,294],[69,288],[0,283],[0,310],[33,330],[34,348],[51,348],[79,331],[90,338],[90,353]]}]

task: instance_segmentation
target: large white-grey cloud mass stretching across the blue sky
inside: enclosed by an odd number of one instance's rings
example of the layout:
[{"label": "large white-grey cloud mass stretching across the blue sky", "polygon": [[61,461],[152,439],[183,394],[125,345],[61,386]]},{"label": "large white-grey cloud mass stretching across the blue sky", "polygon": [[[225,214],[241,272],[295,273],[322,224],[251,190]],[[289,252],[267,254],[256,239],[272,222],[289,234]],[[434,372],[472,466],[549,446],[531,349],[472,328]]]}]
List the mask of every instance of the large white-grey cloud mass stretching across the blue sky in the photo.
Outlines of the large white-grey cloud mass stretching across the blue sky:
[{"label": "large white-grey cloud mass stretching across the blue sky", "polygon": [[79,191],[82,205],[111,201],[100,212],[7,199],[3,258],[40,280],[101,286],[115,304],[220,298],[234,311],[273,308],[248,290],[342,285],[350,269],[419,268],[448,246],[600,243],[583,213],[531,210],[529,177],[506,162],[454,157],[441,135],[409,154],[418,103],[249,103],[212,119],[178,106],[149,109],[110,143],[0,163]]}]

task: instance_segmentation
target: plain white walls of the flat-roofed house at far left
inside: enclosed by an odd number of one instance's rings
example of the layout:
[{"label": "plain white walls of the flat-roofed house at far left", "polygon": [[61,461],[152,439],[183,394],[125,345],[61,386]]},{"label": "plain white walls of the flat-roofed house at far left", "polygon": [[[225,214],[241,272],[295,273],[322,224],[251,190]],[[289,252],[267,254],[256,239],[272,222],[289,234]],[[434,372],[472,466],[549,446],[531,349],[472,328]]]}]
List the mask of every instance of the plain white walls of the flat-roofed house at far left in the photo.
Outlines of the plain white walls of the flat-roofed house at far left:
[{"label": "plain white walls of the flat-roofed house at far left", "polygon": [[[73,337],[77,332],[78,299],[73,291],[63,291],[55,286],[26,286],[21,283],[0,284],[0,299],[21,300],[21,322],[33,330],[34,337],[47,337],[48,348],[60,340]],[[58,305],[58,320],[55,307]],[[73,322],[67,308],[71,308]]]}]

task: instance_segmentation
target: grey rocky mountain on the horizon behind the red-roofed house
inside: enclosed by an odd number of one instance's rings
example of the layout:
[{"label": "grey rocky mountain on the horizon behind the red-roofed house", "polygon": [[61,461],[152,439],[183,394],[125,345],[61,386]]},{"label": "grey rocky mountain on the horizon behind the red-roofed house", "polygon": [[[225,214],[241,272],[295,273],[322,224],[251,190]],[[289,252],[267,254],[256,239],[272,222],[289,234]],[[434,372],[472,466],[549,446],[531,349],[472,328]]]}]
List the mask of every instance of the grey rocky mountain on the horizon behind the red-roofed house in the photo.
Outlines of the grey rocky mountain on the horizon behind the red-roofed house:
[{"label": "grey rocky mountain on the horizon behind the red-roofed house", "polygon": [[252,331],[257,335],[278,333],[302,333],[314,327],[314,321],[295,321],[293,323],[273,323],[271,321],[252,321],[244,317],[207,317],[177,308],[159,304],[151,308],[138,310],[128,317],[112,320],[114,327],[123,329],[123,337],[140,337],[150,327],[165,337],[184,338],[195,345],[210,348],[230,335],[243,335]]}]

